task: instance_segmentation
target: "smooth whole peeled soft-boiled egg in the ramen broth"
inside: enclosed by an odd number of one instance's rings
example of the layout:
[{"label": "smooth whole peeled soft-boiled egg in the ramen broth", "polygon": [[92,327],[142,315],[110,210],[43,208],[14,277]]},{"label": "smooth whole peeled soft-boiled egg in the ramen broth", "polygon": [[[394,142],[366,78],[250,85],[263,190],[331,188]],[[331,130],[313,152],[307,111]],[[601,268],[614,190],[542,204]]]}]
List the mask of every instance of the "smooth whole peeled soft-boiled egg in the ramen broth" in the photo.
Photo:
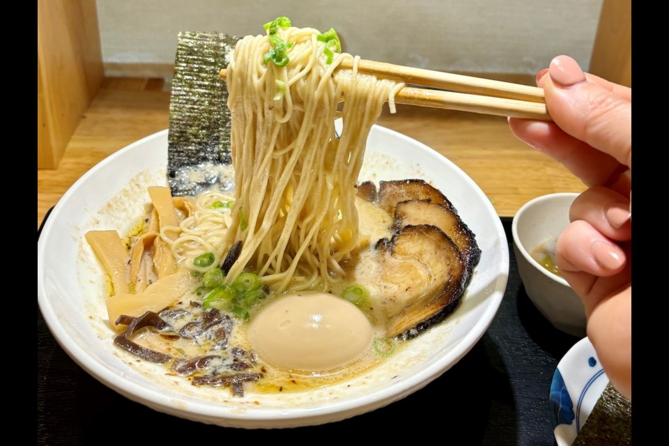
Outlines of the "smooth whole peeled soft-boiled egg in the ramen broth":
[{"label": "smooth whole peeled soft-boiled egg in the ramen broth", "polygon": [[250,326],[254,351],[275,367],[327,371],[355,361],[374,330],[360,309],[328,293],[286,295],[268,303]]}]

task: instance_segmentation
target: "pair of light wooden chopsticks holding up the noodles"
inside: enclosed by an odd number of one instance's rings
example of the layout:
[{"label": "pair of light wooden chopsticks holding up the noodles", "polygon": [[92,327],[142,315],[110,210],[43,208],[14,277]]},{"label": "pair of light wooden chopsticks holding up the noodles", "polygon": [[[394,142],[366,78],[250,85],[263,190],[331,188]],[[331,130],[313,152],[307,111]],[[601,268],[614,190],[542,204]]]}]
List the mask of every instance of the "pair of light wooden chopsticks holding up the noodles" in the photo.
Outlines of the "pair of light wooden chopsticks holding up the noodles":
[{"label": "pair of light wooden chopsticks holding up the noodles", "polygon": [[[352,68],[352,58],[344,59],[338,67]],[[407,84],[395,95],[398,104],[552,121],[544,90],[537,87],[366,60],[358,62],[357,70]],[[225,78],[225,70],[221,70],[221,77]]]}]

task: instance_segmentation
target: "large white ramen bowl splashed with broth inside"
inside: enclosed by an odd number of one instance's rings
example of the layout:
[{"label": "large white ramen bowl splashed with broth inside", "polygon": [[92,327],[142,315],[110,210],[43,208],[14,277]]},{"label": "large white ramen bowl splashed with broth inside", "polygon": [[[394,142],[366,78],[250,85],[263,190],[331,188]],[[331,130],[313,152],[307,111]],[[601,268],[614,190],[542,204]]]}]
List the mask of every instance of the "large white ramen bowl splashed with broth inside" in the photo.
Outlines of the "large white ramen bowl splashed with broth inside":
[{"label": "large white ramen bowl splashed with broth inside", "polygon": [[386,406],[421,389],[458,362],[489,327],[509,274],[509,252],[489,199],[461,169],[431,148],[375,126],[360,180],[423,178],[438,187],[474,231],[482,250],[455,312],[379,367],[325,388],[231,397],[229,390],[164,378],[161,365],[137,363],[112,343],[104,273],[84,233],[128,233],[149,202],[146,187],[167,185],[167,130],[123,148],[63,195],[38,240],[37,293],[49,329],[100,382],[132,401],[187,420],[243,428],[312,426]]}]

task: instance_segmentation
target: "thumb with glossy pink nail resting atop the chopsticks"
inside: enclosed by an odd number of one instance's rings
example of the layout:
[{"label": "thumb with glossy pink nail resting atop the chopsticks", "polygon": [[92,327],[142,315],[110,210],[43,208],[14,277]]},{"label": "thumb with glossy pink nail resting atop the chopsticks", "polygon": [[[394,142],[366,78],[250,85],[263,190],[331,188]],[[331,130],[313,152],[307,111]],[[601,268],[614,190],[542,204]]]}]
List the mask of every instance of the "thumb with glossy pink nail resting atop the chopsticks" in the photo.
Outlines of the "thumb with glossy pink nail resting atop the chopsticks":
[{"label": "thumb with glossy pink nail resting atop the chopsticks", "polygon": [[542,81],[546,108],[564,132],[631,169],[631,100],[587,79],[569,56],[553,59]]}]

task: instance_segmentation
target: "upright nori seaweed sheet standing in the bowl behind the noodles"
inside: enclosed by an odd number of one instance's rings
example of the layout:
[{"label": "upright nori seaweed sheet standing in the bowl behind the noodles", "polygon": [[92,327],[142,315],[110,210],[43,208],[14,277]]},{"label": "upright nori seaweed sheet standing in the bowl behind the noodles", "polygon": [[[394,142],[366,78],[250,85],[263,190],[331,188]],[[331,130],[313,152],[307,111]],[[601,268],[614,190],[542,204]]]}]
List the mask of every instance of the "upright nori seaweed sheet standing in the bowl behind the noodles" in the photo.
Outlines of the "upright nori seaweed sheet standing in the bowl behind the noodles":
[{"label": "upright nori seaweed sheet standing in the bowl behind the noodles", "polygon": [[174,196],[192,196],[215,183],[230,181],[218,178],[215,170],[200,176],[189,172],[232,162],[228,91],[219,73],[228,66],[239,39],[224,33],[189,31],[178,35],[167,156],[167,176]]}]

